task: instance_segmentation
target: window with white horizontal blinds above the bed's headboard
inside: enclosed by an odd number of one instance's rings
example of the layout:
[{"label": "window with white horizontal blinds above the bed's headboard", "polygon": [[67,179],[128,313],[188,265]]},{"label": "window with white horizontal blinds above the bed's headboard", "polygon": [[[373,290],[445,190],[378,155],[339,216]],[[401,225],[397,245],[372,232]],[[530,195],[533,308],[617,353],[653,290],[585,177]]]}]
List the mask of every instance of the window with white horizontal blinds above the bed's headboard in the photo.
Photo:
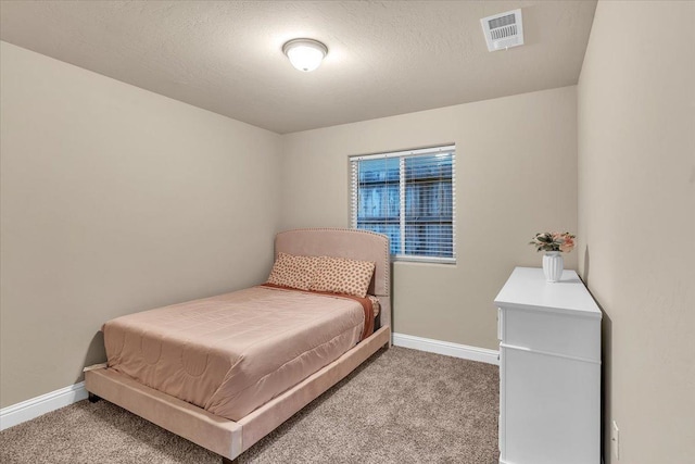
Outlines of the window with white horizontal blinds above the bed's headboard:
[{"label": "window with white horizontal blinds above the bed's headboard", "polygon": [[456,262],[455,147],[351,156],[353,228],[386,234],[396,260]]}]

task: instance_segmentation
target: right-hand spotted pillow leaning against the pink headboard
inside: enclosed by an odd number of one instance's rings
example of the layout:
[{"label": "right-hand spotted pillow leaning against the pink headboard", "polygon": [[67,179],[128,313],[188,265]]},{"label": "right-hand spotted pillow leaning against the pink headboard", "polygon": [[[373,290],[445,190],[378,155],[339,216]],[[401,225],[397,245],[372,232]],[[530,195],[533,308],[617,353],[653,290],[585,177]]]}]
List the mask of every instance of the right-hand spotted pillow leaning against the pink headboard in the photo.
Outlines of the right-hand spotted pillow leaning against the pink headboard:
[{"label": "right-hand spotted pillow leaning against the pink headboard", "polygon": [[376,263],[320,256],[309,290],[353,294],[365,298]]}]

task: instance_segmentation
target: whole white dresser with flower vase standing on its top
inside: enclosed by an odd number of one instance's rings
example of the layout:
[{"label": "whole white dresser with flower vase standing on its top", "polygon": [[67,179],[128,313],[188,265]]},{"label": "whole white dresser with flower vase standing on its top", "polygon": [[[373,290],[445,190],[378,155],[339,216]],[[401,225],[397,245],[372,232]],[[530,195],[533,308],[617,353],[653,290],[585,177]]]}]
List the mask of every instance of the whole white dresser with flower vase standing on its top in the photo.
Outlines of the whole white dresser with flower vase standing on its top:
[{"label": "whole white dresser with flower vase standing on its top", "polygon": [[517,267],[497,298],[500,463],[601,462],[601,310],[573,271]]}]

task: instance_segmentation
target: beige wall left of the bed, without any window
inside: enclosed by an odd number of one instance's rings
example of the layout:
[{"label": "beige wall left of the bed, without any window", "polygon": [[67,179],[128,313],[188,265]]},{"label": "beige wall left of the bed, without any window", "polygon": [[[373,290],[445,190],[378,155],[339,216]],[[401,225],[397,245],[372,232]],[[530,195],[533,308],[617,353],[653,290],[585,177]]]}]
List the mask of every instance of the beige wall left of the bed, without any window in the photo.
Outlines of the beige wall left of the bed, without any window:
[{"label": "beige wall left of the bed, without any window", "polygon": [[100,325],[267,276],[280,137],[1,43],[2,406],[102,361]]}]

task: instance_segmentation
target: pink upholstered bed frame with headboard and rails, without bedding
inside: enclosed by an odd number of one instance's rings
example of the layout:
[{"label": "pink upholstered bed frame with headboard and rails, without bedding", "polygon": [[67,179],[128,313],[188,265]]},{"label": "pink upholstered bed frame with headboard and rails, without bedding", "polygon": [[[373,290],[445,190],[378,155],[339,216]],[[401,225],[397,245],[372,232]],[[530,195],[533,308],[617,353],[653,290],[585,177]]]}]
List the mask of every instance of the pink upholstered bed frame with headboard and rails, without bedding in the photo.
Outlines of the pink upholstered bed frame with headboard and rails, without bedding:
[{"label": "pink upholstered bed frame with headboard and rails, without bedding", "polygon": [[103,366],[86,368],[85,387],[90,401],[103,398],[222,455],[223,463],[232,463],[237,456],[344,378],[382,347],[391,346],[390,260],[387,236],[354,229],[288,230],[279,233],[275,238],[276,258],[279,252],[375,262],[376,269],[369,285],[369,293],[376,294],[381,304],[379,326],[375,333],[331,364],[236,422],[140,385],[130,377]]}]

